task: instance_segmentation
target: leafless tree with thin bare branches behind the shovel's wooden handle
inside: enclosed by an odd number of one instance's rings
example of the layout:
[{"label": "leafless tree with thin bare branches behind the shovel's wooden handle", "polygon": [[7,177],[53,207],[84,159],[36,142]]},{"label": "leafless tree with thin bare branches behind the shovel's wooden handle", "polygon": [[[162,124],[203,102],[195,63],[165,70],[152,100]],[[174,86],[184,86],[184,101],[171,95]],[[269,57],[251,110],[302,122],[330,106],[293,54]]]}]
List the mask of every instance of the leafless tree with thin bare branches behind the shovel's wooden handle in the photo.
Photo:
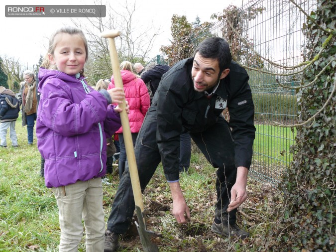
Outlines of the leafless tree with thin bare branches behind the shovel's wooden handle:
[{"label": "leafless tree with thin bare branches behind the shovel's wooden handle", "polygon": [[[100,4],[101,1],[95,2]],[[155,26],[144,28],[139,22],[134,20],[136,5],[123,1],[116,9],[107,4],[107,16],[86,18],[83,22],[72,20],[86,34],[89,44],[89,60],[85,65],[85,72],[89,76],[90,84],[98,79],[110,78],[112,75],[111,60],[108,40],[100,36],[105,30],[116,29],[120,31],[120,36],[115,39],[120,62],[128,60],[132,63],[144,61],[148,58],[150,50],[157,35],[159,34]]]}]

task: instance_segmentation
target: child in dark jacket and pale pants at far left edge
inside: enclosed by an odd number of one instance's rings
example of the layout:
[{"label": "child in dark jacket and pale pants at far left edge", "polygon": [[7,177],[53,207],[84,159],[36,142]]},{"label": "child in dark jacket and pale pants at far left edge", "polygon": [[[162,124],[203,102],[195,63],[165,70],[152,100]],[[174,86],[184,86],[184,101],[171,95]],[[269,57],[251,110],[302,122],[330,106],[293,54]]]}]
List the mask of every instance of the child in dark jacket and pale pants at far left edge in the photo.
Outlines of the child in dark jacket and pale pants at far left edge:
[{"label": "child in dark jacket and pale pants at far left edge", "polygon": [[9,127],[9,137],[11,146],[16,148],[17,136],[15,131],[15,123],[20,111],[20,103],[16,99],[15,94],[10,89],[0,87],[0,147],[6,148],[7,129]]}]

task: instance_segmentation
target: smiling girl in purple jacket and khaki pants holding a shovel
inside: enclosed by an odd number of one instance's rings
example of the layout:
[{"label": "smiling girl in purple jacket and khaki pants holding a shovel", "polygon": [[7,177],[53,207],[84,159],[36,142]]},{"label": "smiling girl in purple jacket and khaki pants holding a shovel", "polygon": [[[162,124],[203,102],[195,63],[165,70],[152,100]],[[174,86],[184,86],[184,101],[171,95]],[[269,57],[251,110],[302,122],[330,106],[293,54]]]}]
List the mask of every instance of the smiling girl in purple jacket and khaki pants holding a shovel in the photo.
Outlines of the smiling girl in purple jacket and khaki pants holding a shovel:
[{"label": "smiling girl in purple jacket and khaki pants holding a shovel", "polygon": [[[39,70],[37,146],[45,159],[45,184],[59,209],[60,252],[77,252],[86,228],[86,251],[103,252],[102,178],[106,138],[120,127],[122,89],[95,91],[84,78],[88,44],[75,27],[57,30]],[[126,107],[128,111],[128,107]],[[100,139],[100,141],[97,141]]]}]

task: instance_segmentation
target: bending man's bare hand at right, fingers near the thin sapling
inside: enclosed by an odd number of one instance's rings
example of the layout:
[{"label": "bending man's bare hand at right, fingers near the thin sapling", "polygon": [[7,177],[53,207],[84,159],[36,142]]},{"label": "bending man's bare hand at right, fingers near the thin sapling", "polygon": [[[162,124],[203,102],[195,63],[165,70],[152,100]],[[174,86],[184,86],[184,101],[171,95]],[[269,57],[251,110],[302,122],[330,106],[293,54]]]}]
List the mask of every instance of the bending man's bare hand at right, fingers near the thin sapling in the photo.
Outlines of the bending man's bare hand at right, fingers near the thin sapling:
[{"label": "bending man's bare hand at right, fingers near the thin sapling", "polygon": [[227,212],[239,207],[247,198],[246,183],[248,169],[243,166],[237,168],[237,178],[231,188],[231,201],[228,204]]}]

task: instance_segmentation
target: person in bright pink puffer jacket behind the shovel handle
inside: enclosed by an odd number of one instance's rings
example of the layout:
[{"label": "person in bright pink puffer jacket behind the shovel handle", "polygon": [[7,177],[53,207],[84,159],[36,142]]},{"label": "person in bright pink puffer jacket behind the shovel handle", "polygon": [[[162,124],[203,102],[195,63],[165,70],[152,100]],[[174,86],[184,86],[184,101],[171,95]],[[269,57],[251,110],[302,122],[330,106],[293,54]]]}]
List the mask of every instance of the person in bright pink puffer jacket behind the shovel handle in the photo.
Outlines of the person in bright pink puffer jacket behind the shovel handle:
[{"label": "person in bright pink puffer jacket behind the shovel handle", "polygon": [[[136,137],[143,123],[143,119],[145,118],[145,115],[149,109],[150,98],[146,84],[134,73],[133,66],[129,61],[121,62],[120,69],[123,89],[125,92],[125,100],[128,101],[129,106],[128,120],[134,146]],[[112,75],[108,90],[114,87],[114,76]],[[115,133],[122,133],[122,127],[120,127]],[[121,178],[121,175],[125,169],[126,149],[123,135],[118,134],[118,136],[120,142],[118,167],[119,178]]]}]

